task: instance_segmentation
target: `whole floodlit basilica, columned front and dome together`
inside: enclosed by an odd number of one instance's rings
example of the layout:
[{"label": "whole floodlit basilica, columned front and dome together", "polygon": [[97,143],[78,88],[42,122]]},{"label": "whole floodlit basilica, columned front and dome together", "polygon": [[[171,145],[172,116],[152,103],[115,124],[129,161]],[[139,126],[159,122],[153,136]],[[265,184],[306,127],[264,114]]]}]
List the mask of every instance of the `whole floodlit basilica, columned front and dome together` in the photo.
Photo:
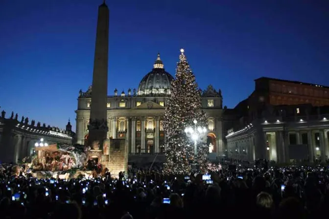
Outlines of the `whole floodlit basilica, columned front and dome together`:
[{"label": "whole floodlit basilica, columned front and dome together", "polygon": [[[139,84],[138,89],[127,92],[114,90],[107,98],[107,138],[125,139],[130,155],[164,153],[163,117],[170,96],[173,76],[164,70],[160,54]],[[78,144],[88,141],[88,124],[92,87],[80,90],[76,112],[76,138]],[[208,117],[207,144],[213,156],[223,152],[222,95],[212,86],[202,92],[202,110]]]}]

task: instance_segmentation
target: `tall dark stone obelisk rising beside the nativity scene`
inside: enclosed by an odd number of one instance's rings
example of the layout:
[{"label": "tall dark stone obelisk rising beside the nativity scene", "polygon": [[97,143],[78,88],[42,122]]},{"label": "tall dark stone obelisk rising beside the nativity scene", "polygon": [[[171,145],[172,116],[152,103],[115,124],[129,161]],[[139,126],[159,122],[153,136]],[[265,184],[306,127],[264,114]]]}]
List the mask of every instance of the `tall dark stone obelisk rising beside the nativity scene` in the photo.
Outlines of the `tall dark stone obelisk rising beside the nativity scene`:
[{"label": "tall dark stone obelisk rising beside the nativity scene", "polygon": [[92,85],[92,103],[90,107],[90,122],[88,126],[88,143],[92,149],[98,142],[101,150],[106,139],[107,126],[107,68],[109,58],[109,9],[104,2],[98,7],[96,44],[94,56],[94,72]]}]

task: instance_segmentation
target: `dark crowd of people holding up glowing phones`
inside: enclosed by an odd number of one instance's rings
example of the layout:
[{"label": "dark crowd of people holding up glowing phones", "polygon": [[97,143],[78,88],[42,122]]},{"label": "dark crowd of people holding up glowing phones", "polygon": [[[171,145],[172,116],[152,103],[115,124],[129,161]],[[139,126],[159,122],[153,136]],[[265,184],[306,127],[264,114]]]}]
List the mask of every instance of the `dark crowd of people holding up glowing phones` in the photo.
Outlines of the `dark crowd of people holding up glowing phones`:
[{"label": "dark crowd of people holding up glowing phones", "polygon": [[329,206],[323,166],[130,171],[118,179],[37,179],[0,168],[1,219],[316,218]]}]

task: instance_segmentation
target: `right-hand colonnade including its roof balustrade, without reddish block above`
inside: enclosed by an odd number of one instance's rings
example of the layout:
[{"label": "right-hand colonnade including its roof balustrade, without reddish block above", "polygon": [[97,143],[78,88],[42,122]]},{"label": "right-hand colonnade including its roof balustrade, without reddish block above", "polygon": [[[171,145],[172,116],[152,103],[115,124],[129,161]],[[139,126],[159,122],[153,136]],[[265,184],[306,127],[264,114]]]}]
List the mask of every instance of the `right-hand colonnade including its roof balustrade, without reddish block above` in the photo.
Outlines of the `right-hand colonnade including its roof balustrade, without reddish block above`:
[{"label": "right-hand colonnade including its roof balustrade, without reddish block above", "polygon": [[[254,120],[249,127],[226,135],[228,157],[246,161],[267,159],[277,163],[325,162],[329,158],[328,118],[329,114],[319,114],[308,119],[272,116]],[[303,159],[295,158],[299,154],[292,150],[293,146],[300,150],[306,147]]]}]

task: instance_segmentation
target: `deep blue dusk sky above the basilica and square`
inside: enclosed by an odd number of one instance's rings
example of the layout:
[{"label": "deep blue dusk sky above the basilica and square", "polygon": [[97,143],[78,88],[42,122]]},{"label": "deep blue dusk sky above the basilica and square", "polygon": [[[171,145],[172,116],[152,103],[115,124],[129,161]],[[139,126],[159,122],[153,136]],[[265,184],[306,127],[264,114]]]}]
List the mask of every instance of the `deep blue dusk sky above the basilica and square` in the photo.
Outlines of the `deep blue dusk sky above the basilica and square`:
[{"label": "deep blue dusk sky above the basilica and square", "polygon": [[[64,128],[92,82],[102,0],[0,1],[0,106]],[[265,3],[266,2],[266,3]],[[329,1],[108,0],[108,93],[137,88],[184,47],[202,89],[234,107],[266,76],[329,85]]]}]

